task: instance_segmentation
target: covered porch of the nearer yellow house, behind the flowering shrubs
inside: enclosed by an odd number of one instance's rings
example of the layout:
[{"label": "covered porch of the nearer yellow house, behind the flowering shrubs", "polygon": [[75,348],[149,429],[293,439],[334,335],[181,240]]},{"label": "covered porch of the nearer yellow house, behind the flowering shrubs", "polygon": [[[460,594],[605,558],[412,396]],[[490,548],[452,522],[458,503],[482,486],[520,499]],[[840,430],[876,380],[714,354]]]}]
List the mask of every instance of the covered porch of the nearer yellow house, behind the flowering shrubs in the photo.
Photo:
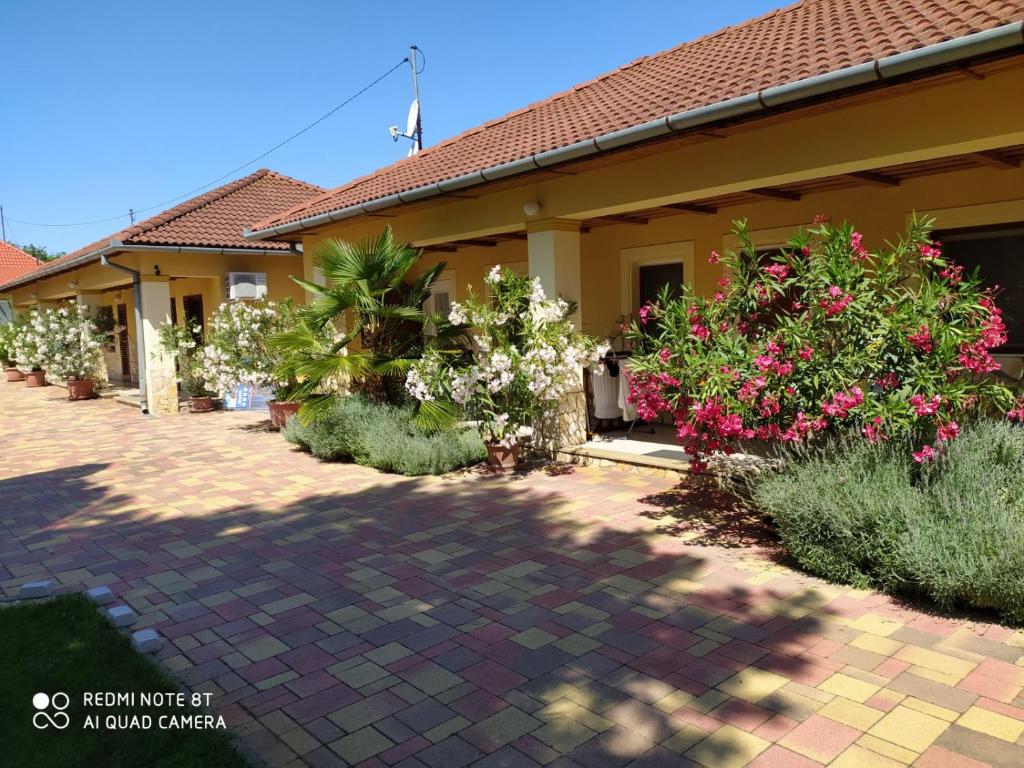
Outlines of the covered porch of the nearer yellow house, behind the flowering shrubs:
[{"label": "covered porch of the nearer yellow house, behind the flowering shrubs", "polygon": [[[1024,375],[1024,313],[1019,308],[1024,302],[1022,159],[1024,144],[1017,143],[616,214],[527,221],[521,229],[427,244],[423,264],[446,265],[435,288],[436,307],[464,298],[470,290],[479,292],[483,275],[495,264],[541,278],[549,295],[578,303],[579,325],[605,340],[625,369],[629,344],[623,327],[664,285],[685,283],[710,295],[721,273],[708,263],[708,255],[737,247],[730,232],[734,220],[746,219],[756,247],[771,251],[798,227],[809,226],[815,216],[849,220],[866,243],[882,245],[897,237],[916,213],[935,219],[936,238],[947,253],[969,270],[977,267],[989,285],[1002,288],[999,303],[1011,340],[997,357],[1002,374],[1020,380]],[[609,395],[608,382],[599,382],[600,376],[598,372],[585,376],[586,386],[572,406],[578,418],[564,435],[562,456],[641,471],[687,471],[688,457],[676,442],[672,425],[634,422],[635,412],[623,408],[627,403],[622,386],[617,397],[614,389]]]}]

